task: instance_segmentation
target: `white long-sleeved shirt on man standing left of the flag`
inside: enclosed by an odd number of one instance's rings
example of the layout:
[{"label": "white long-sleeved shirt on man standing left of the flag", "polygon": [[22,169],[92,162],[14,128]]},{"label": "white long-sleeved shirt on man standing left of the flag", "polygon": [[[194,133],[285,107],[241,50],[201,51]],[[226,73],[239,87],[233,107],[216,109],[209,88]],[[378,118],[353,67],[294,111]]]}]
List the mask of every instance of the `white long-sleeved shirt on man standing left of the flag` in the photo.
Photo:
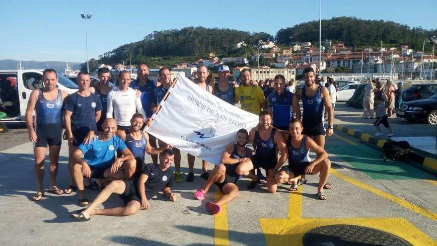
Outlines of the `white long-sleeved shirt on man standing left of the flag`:
[{"label": "white long-sleeved shirt on man standing left of the flag", "polygon": [[[131,118],[137,110],[146,117],[146,112],[133,88],[121,91],[117,87],[108,93],[106,118],[114,118],[119,126],[130,126]],[[114,113],[114,117],[112,117]]]}]

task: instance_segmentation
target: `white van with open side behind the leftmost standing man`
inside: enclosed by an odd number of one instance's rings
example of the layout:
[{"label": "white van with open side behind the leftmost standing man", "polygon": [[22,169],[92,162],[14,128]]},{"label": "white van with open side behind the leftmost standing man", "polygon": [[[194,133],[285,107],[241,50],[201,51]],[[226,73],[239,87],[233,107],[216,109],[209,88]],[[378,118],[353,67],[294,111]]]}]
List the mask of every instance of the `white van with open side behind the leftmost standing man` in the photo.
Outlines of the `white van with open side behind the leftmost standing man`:
[{"label": "white van with open side behind the leftmost standing man", "polygon": [[[0,119],[0,123],[26,122],[25,114],[30,93],[42,87],[42,70],[0,70],[0,111],[7,115]],[[60,73],[58,88],[69,94],[79,89],[77,84]]]}]

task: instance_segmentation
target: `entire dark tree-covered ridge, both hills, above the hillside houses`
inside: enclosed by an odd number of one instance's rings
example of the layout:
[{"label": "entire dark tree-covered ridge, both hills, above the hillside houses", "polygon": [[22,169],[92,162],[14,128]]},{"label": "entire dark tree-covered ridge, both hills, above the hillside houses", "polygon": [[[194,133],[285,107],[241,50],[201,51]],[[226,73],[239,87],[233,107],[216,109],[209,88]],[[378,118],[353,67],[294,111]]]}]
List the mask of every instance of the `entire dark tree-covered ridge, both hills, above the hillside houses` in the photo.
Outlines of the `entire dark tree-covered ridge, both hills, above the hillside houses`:
[{"label": "entire dark tree-covered ridge, both hills, above the hillside houses", "polygon": [[[154,31],[143,40],[122,45],[99,56],[92,64],[138,64],[146,62],[150,66],[180,62],[181,57],[205,58],[210,52],[218,57],[249,56],[255,50],[251,44],[258,40],[276,41],[279,45],[291,45],[293,42],[318,42],[319,22],[310,21],[279,30],[276,37],[260,32],[250,33],[226,28],[185,27]],[[437,35],[437,29],[425,30],[421,27],[410,28],[392,21],[362,20],[355,17],[334,17],[322,20],[322,40],[330,39],[344,42],[351,47],[378,47],[381,40],[384,45],[398,46],[406,44],[416,50],[422,49],[424,39]],[[235,45],[244,41],[247,46],[236,49]],[[431,51],[427,43],[425,51]]]}]

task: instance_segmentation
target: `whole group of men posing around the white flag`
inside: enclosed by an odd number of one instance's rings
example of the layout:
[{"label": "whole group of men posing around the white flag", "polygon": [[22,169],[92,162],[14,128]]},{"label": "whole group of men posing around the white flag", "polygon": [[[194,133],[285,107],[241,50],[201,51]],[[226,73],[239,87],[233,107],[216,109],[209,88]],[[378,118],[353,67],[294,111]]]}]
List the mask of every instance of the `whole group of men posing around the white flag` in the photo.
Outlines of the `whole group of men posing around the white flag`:
[{"label": "whole group of men posing around the white flag", "polygon": [[[67,95],[56,86],[56,71],[46,69],[43,72],[44,87],[32,92],[26,110],[29,139],[35,143],[38,190],[34,201],[40,201],[44,196],[47,146],[50,157],[49,192],[61,195],[77,190],[79,205],[87,207],[73,213],[75,219],[84,221],[89,220],[90,215],[134,214],[140,208],[148,209],[148,200],[159,191],[176,201],[170,187],[173,180],[182,181],[180,151],[143,131],[146,124],[156,124],[148,117],[159,110],[159,103],[171,86],[170,70],[166,67],[159,70],[159,82],[148,80],[146,64],[139,65],[137,73],[138,79],[131,82],[130,73],[121,71],[119,86],[111,87],[110,71],[99,69],[100,83],[91,89],[88,73],[80,72],[76,80],[78,91]],[[227,66],[221,66],[218,74],[219,81],[213,87],[206,82],[209,76],[207,67],[200,66],[194,82],[227,103],[239,102],[243,110],[259,115],[259,125],[249,132],[244,129],[238,131],[236,144],[230,144],[224,150],[222,163],[216,165],[211,174],[208,173],[208,162],[202,161],[201,177],[208,181],[203,189],[196,191],[195,198],[202,199],[212,183],[216,183],[225,195],[217,202],[206,205],[212,214],[216,214],[220,211],[220,205],[238,194],[235,185],[238,178],[250,178],[252,182],[248,188],[253,189],[265,178],[255,175],[254,170],[258,169],[258,174],[261,174],[260,168],[263,168],[271,193],[276,192],[278,183],[291,184],[291,190],[296,190],[299,184],[305,182],[304,174],[320,171],[317,196],[326,199],[323,188],[330,188],[326,183],[330,163],[323,148],[325,135],[333,133],[333,110],[327,89],[314,83],[314,71],[304,70],[306,86],[296,94],[284,89],[284,76],[276,76],[275,91],[267,99],[259,86],[250,83],[250,70],[241,71],[241,86],[228,82],[230,71]],[[300,99],[303,103],[302,122]],[[324,107],[329,115],[327,130],[323,124]],[[35,127],[32,117],[34,111]],[[66,189],[60,189],[56,183],[63,123],[66,128],[64,139],[68,140],[69,145],[68,167],[72,179]],[[246,147],[248,143],[253,143],[253,156]],[[314,161],[308,157],[309,149],[317,155]],[[151,155],[151,164],[145,164],[145,153]],[[287,159],[289,165],[283,166]],[[174,173],[169,169],[173,162],[176,169]],[[194,180],[194,162],[195,157],[188,154],[186,181]],[[233,176],[235,182],[229,181],[225,174]],[[299,175],[302,178],[297,180]],[[84,178],[95,179],[101,190],[92,203],[85,195]],[[98,209],[97,206],[112,193],[119,194],[126,206]]]}]

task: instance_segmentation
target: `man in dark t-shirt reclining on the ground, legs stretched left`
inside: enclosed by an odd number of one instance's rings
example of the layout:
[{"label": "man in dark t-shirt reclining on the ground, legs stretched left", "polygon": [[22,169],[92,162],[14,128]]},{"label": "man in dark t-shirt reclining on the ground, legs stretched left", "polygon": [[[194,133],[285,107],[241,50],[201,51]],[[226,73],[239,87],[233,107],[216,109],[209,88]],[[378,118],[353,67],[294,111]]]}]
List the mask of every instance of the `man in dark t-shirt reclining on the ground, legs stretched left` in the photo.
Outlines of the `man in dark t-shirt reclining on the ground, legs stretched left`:
[{"label": "man in dark t-shirt reclining on the ground, legs stretched left", "polygon": [[[174,152],[166,149],[159,156],[159,164],[145,164],[139,180],[114,180],[110,182],[86,208],[72,214],[74,219],[88,221],[91,215],[128,216],[138,210],[150,208],[148,200],[156,193],[162,194],[171,201],[176,195],[171,192],[174,174],[169,168],[174,160]],[[105,202],[111,194],[118,194],[124,200],[125,207],[99,209],[97,206]]]}]

